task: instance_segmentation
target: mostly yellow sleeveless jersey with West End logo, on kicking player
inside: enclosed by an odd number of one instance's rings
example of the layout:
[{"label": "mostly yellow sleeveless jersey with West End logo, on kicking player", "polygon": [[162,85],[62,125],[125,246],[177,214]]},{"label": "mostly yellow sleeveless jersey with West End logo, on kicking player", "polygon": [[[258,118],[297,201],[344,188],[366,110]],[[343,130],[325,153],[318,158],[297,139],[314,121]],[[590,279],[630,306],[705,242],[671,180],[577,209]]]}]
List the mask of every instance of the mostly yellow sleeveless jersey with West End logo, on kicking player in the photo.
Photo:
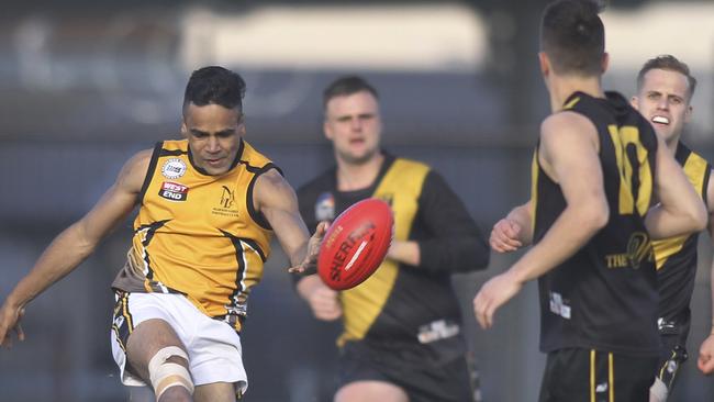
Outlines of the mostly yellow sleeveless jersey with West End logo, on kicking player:
[{"label": "mostly yellow sleeveless jersey with West End logo, on kicking player", "polygon": [[274,168],[242,141],[231,169],[210,176],[193,165],[188,141],[158,143],[140,194],[133,245],[113,288],[181,293],[239,330],[270,254],[271,231],[253,205],[253,188]]}]

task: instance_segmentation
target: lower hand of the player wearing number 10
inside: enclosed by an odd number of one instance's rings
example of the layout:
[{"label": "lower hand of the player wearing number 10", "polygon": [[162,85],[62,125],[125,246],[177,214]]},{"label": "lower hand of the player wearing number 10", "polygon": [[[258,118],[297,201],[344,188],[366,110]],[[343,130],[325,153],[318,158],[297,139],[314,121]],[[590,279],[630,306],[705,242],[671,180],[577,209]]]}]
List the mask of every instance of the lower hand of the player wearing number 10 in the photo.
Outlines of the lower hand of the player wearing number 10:
[{"label": "lower hand of the player wearing number 10", "polygon": [[521,291],[523,283],[515,280],[510,271],[505,271],[483,283],[473,298],[473,314],[482,328],[493,326],[495,311]]}]

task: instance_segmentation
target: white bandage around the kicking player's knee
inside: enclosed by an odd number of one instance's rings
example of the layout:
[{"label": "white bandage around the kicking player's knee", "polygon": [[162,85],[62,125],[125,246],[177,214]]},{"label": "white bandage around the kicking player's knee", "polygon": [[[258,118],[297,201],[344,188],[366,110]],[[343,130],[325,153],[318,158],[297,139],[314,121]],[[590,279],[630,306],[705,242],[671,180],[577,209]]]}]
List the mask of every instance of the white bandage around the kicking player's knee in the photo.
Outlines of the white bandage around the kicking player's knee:
[{"label": "white bandage around the kicking player's knee", "polygon": [[180,347],[168,346],[157,351],[148,362],[148,375],[157,401],[170,387],[183,387],[193,394],[193,381],[189,370],[179,364],[167,361],[172,356],[181,357],[186,361],[189,359]]}]

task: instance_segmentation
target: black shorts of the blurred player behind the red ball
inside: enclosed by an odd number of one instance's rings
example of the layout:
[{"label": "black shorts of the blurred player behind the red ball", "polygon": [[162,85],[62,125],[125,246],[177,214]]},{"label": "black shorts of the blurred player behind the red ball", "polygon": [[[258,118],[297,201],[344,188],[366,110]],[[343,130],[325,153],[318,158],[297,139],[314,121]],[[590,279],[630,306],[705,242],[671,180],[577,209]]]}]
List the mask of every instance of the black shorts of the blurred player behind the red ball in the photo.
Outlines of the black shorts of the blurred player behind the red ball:
[{"label": "black shorts of the blurred player behind the red ball", "polygon": [[465,355],[438,364],[425,356],[419,362],[403,349],[377,350],[352,342],[339,353],[338,388],[355,381],[384,381],[404,390],[410,402],[479,401],[475,375]]}]

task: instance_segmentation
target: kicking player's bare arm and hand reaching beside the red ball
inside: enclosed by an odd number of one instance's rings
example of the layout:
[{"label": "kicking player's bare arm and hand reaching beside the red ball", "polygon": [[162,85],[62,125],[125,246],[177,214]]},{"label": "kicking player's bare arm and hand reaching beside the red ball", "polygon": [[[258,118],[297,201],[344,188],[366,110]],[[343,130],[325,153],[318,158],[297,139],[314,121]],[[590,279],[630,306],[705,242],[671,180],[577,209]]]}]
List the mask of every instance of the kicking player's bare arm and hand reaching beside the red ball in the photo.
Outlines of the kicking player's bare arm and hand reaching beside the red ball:
[{"label": "kicking player's bare arm and hand reaching beside the red ball", "polygon": [[290,271],[314,271],[326,223],[317,225],[315,234],[310,237],[298,210],[294,190],[275,169],[258,177],[253,202],[270,223],[280,246],[288,255]]}]

